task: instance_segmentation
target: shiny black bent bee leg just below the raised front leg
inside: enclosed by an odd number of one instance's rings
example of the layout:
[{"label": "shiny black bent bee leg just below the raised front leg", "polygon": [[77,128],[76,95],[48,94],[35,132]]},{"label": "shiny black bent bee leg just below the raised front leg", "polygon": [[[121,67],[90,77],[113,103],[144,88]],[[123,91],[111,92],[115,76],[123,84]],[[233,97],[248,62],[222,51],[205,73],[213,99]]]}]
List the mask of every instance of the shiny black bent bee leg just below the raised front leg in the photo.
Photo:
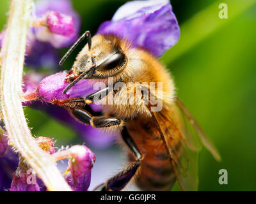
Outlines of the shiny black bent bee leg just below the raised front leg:
[{"label": "shiny black bent bee leg just below the raised front leg", "polygon": [[123,126],[124,121],[115,117],[93,116],[83,108],[68,108],[71,115],[84,124],[91,125],[93,128],[108,128],[112,126]]}]

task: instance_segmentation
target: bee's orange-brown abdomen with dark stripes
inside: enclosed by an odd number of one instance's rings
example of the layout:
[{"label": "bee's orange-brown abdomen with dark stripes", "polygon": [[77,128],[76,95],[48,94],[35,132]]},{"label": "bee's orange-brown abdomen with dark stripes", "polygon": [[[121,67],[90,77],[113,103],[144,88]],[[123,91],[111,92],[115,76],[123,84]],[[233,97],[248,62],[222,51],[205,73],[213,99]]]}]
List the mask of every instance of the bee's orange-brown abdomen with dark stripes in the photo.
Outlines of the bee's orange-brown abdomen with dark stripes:
[{"label": "bee's orange-brown abdomen with dark stripes", "polygon": [[[170,128],[170,126],[167,127]],[[170,190],[175,183],[175,175],[154,120],[147,120],[145,123],[138,119],[132,120],[127,124],[127,128],[143,155],[137,177],[138,186],[145,191]],[[170,132],[170,129],[166,132]],[[172,135],[170,140],[173,140]],[[175,149],[178,150],[181,147],[179,144],[177,139],[173,140]],[[129,157],[131,161],[134,160],[131,154]]]}]

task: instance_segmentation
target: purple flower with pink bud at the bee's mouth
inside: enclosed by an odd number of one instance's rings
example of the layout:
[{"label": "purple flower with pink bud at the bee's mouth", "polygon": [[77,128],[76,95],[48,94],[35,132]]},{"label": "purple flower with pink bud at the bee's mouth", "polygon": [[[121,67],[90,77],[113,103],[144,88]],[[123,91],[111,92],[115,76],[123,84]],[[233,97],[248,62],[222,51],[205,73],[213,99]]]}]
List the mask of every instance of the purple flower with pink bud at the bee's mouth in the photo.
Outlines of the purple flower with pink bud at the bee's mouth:
[{"label": "purple flower with pink bud at the bee's mouth", "polygon": [[[40,101],[32,103],[33,99],[40,99],[41,101],[51,102],[52,99],[67,99],[70,97],[84,96],[93,92],[93,87],[88,85],[86,80],[81,80],[68,91],[66,94],[62,94],[63,89],[67,86],[65,83],[65,76],[67,73],[60,72],[55,75],[45,77],[38,73],[29,73],[24,77],[24,89],[25,98],[28,100],[23,105],[30,105],[32,108],[43,110],[49,113],[52,117],[64,122],[67,126],[77,131],[79,135],[86,141],[86,143],[92,145],[98,149],[105,149],[115,142],[116,137],[119,135],[116,133],[102,132],[97,128],[86,126],[77,122],[65,108],[57,105],[44,105]],[[42,79],[43,78],[43,79]],[[42,80],[40,82],[40,80]],[[100,105],[91,104],[93,112],[102,111]]]}]

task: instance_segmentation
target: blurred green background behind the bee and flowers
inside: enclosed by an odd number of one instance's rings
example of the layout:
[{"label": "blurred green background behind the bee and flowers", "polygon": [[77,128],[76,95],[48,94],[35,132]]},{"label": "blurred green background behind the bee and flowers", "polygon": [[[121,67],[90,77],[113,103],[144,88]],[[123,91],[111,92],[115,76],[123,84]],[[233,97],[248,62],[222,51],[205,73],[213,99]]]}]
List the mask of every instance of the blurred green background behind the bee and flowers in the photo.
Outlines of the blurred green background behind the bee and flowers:
[{"label": "blurred green background behind the bee and flowers", "polygon": [[[83,20],[81,31],[92,33],[125,3],[72,2]],[[221,163],[217,163],[207,150],[200,152],[200,191],[256,190],[255,2],[172,0],[181,36],[161,61],[172,71],[179,97],[212,138],[222,157]],[[228,19],[218,17],[220,3],[227,3]],[[8,1],[0,1],[0,9],[3,29]],[[75,56],[73,53],[65,67],[71,66]],[[52,136],[59,146],[82,142],[74,130],[44,112],[30,108],[25,108],[25,112],[35,135]],[[112,148],[118,151],[117,147]],[[218,183],[218,171],[222,168],[228,171],[228,185]]]}]

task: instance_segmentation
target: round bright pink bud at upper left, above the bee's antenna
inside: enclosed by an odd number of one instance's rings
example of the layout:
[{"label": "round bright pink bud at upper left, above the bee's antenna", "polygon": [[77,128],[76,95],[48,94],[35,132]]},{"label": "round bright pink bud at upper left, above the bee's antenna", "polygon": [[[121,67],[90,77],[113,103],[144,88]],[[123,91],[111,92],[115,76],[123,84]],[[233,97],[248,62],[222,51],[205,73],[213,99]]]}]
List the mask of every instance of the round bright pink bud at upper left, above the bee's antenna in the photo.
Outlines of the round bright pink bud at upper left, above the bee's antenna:
[{"label": "round bright pink bud at upper left, above the bee's antenna", "polygon": [[51,11],[47,15],[46,22],[52,33],[63,36],[71,36],[74,33],[74,19],[70,15]]}]

